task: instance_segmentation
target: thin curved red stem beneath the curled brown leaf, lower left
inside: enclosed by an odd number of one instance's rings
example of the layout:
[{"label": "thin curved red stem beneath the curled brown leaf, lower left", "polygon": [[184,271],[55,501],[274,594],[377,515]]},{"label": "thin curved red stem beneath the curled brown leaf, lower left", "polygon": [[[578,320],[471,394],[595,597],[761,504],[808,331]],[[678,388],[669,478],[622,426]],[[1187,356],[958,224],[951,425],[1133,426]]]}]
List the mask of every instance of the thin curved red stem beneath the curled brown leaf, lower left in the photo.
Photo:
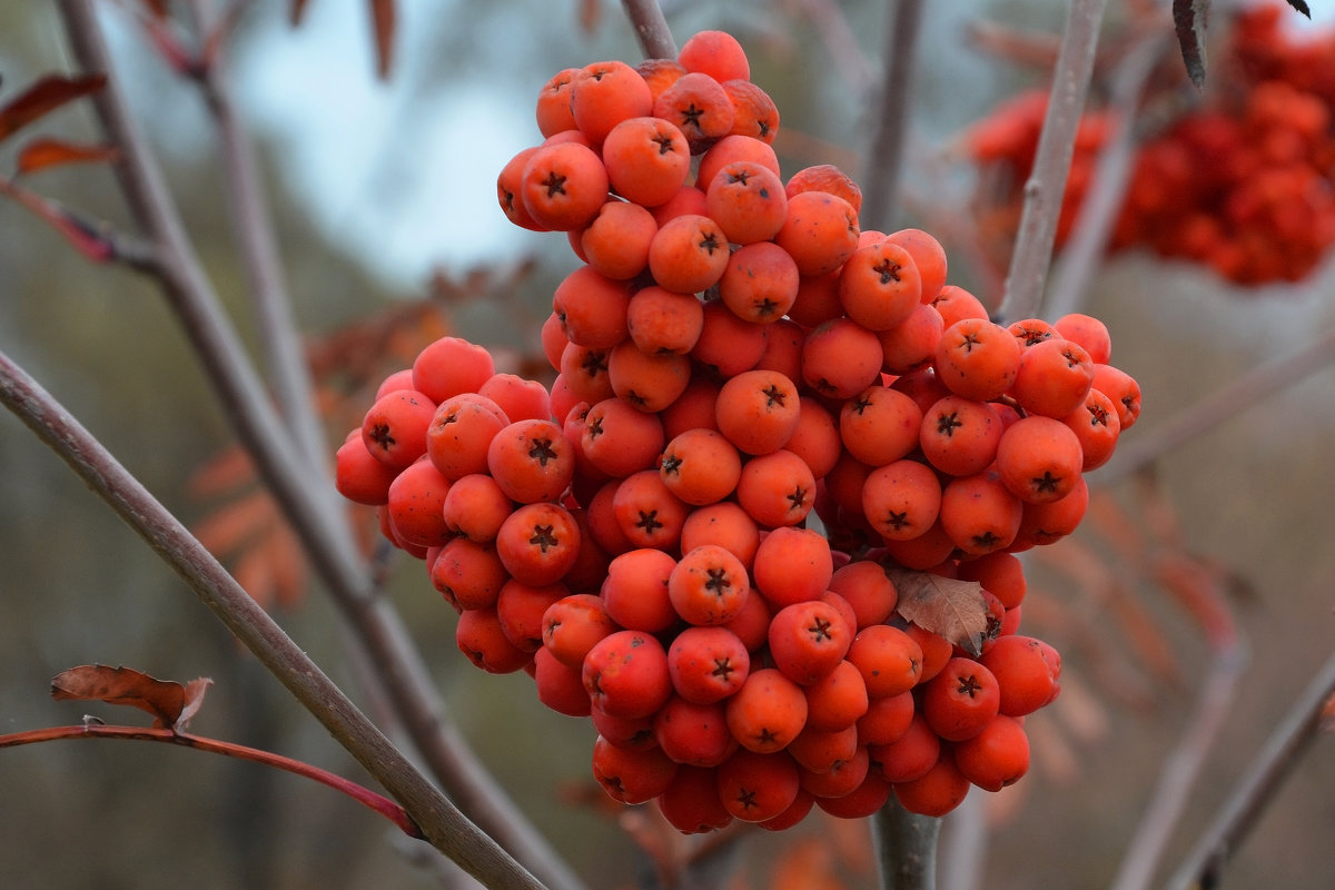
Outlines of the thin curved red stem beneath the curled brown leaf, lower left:
[{"label": "thin curved red stem beneath the curled brown leaf, lower left", "polygon": [[191,735],[188,733],[176,733],[164,727],[143,727],[143,726],[105,726],[103,723],[87,722],[80,726],[51,726],[41,730],[29,730],[27,733],[13,733],[11,735],[0,735],[0,747],[17,747],[20,745],[32,745],[36,742],[55,742],[59,739],[91,739],[91,738],[104,738],[104,739],[131,739],[138,742],[166,742],[168,745],[180,745],[184,747],[195,749],[196,751],[208,751],[211,754],[222,754],[224,757],[235,757],[242,761],[252,761],[255,763],[263,763],[264,766],[271,766],[278,770],[286,770],[294,773],[295,775],[302,775],[320,785],[327,785],[335,791],[342,791],[364,807],[368,807],[386,819],[392,822],[399,827],[403,834],[410,838],[425,839],[422,829],[413,821],[413,818],[394,801],[386,798],[382,794],[376,794],[367,787],[344,779],[342,775],[330,773],[328,770],[322,770],[318,766],[306,763],[304,761],[296,761],[290,757],[283,757],[282,754],[274,754],[271,751],[262,751],[259,749],[248,747],[246,745],[236,745],[235,742],[223,742],[220,739],[206,738],[202,735]]}]

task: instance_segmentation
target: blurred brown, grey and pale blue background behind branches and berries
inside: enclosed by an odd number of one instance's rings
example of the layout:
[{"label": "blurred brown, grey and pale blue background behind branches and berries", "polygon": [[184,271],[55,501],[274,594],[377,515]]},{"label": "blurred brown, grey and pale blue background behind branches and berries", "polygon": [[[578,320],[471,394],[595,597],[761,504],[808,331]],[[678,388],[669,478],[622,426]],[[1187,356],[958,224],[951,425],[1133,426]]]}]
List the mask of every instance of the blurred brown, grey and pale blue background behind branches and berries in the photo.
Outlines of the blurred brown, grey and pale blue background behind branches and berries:
[{"label": "blurred brown, grey and pale blue background behind branches and berries", "polygon": [[[563,238],[510,226],[493,183],[510,156],[539,140],[533,101],[553,73],[641,57],[621,7],[399,0],[392,71],[382,80],[367,4],[315,0],[299,27],[288,19],[291,4],[246,5],[230,43],[231,83],[262,152],[330,452],[359,423],[379,379],[445,332],[491,347],[506,368],[537,374],[538,327],[551,288],[575,260]],[[1065,4],[926,5],[905,187],[890,224],[937,234],[952,282],[995,307],[999,268],[987,247],[997,234],[975,224],[979,176],[959,135],[1000,100],[1044,85],[1040,61],[1051,55]],[[1109,35],[1136,5],[1109,4]],[[211,120],[192,84],[146,40],[135,8],[125,0],[101,9],[116,76],[254,346]],[[666,11],[678,43],[722,28],[746,47],[752,79],[782,115],[776,147],[785,173],[833,163],[865,176],[874,163],[865,152],[885,4],[674,1]],[[1288,17],[1298,31],[1323,27]],[[1025,39],[1009,49],[980,47],[971,31],[979,23],[1004,24]],[[1164,64],[1180,65],[1171,48]],[[51,4],[0,5],[0,101],[71,65]],[[96,139],[87,103],[39,128]],[[5,175],[16,141],[0,151]],[[92,217],[127,224],[104,167],[48,171],[28,184]],[[214,543],[296,642],[359,698],[340,619],[319,584],[276,568],[282,531],[254,495],[156,287],[83,259],[11,200],[0,200],[0,350]],[[1108,323],[1113,363],[1144,392],[1144,412],[1124,447],[1259,363],[1315,342],[1335,324],[1332,296],[1330,263],[1299,283],[1246,288],[1135,251],[1093,270],[1083,308]],[[1001,794],[975,791],[959,825],[947,827],[956,837],[965,834],[959,826],[987,827],[983,886],[1079,890],[1112,882],[1165,754],[1191,721],[1212,652],[1200,612],[1155,572],[1156,555],[1180,556],[1226,591],[1247,659],[1218,746],[1168,841],[1169,865],[1331,652],[1335,372],[1327,363],[1272,398],[1224,414],[1207,435],[1155,462],[1151,476],[1100,486],[1092,474],[1097,507],[1085,527],[1031,560],[1024,627],[1063,651],[1064,690],[1029,722],[1031,774]],[[364,779],[9,414],[0,415],[0,734],[76,723],[85,713],[136,722],[138,713],[48,695],[51,678],[67,667],[125,664],[164,679],[211,677],[195,733]],[[475,671],[454,644],[454,614],[419,563],[391,560],[386,595],[402,610],[454,719],[581,877],[595,889],[650,881],[649,858],[589,777],[587,723],[538,706],[523,675]],[[0,883],[8,887],[442,886],[392,829],[332,791],[168,746],[0,750]],[[1332,831],[1327,734],[1236,851],[1222,886],[1328,887]],[[813,817],[784,837],[746,835],[728,855],[717,886],[874,886],[861,823]],[[793,879],[800,883],[782,883]]]}]

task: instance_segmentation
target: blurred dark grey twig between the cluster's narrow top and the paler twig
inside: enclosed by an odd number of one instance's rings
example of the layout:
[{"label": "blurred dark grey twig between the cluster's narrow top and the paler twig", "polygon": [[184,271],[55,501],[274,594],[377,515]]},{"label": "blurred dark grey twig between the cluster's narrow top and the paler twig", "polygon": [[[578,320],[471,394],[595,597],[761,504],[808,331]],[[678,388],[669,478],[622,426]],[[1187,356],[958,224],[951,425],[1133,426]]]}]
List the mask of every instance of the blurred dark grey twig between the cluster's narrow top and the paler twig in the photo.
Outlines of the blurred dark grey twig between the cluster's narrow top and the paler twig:
[{"label": "blurred dark grey twig between the cluster's narrow top and the paler twig", "polygon": [[889,231],[897,207],[906,143],[913,59],[922,23],[922,0],[897,0],[886,11],[885,73],[862,171],[862,228]]}]

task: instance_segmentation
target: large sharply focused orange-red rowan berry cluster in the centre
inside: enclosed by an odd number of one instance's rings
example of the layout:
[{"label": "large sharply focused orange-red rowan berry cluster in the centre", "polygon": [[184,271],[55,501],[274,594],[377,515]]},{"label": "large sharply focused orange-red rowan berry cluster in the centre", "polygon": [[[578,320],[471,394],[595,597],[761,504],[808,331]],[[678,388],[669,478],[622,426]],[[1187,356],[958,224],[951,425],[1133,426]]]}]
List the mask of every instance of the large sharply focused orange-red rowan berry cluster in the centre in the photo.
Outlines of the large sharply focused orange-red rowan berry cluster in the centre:
[{"label": "large sharply focused orange-red rowan berry cluster in the centre", "polygon": [[[996,324],[930,235],[862,231],[838,169],[781,179],[726,33],[562,72],[538,121],[498,195],[583,260],[542,330],[554,383],[433,343],[339,491],[425,560],[478,667],[590,717],[598,782],[681,831],[1019,779],[1060,656],[1017,632],[1015,554],[1075,527],[1139,412],[1107,328]],[[910,570],[977,630],[906,620]]]}]

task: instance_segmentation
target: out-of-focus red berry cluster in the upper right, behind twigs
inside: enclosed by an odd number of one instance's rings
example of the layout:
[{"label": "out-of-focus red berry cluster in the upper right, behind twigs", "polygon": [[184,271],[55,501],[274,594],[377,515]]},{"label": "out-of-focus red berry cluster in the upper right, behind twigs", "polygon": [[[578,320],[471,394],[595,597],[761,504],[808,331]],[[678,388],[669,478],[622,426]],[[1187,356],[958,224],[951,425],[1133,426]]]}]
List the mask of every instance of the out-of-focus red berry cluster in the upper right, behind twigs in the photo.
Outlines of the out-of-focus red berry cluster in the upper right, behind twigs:
[{"label": "out-of-focus red berry cluster in the upper right, behind twigs", "polygon": [[[1335,243],[1335,32],[1299,39],[1280,4],[1239,9],[1212,56],[1210,93],[1139,148],[1109,250],[1149,248],[1244,286],[1302,280]],[[1008,183],[995,221],[1015,231],[1047,107],[1035,92],[968,136],[989,180]],[[1071,232],[1111,119],[1088,112],[1076,140],[1057,243]]]}]

